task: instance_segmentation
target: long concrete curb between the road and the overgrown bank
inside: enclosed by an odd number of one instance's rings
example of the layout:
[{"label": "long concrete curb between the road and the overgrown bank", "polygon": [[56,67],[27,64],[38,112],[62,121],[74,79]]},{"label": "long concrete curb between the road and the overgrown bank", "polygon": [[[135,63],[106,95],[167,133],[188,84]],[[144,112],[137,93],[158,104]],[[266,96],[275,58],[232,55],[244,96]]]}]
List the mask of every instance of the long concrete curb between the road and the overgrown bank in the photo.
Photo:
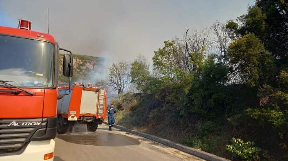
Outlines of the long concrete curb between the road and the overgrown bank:
[{"label": "long concrete curb between the road and the overgrown bank", "polygon": [[[108,122],[106,122],[106,121],[103,121],[103,123],[108,125]],[[200,150],[188,147],[188,146],[184,146],[184,145],[172,142],[172,141],[167,140],[167,139],[158,138],[156,136],[153,136],[153,135],[150,135],[150,134],[147,134],[147,133],[131,130],[131,129],[128,129],[126,127],[120,126],[120,125],[115,125],[114,124],[113,127],[117,128],[117,129],[121,129],[121,130],[127,131],[127,132],[130,132],[130,133],[133,133],[133,134],[138,135],[138,136],[142,136],[144,138],[153,140],[155,142],[164,144],[164,145],[169,146],[171,148],[175,148],[175,149],[180,150],[182,152],[197,156],[199,158],[202,158],[202,159],[205,159],[205,160],[208,160],[208,161],[230,161],[229,159],[226,159],[226,158],[222,158],[222,157],[219,157],[219,156],[207,153],[207,152],[203,152],[203,151],[200,151]]]}]

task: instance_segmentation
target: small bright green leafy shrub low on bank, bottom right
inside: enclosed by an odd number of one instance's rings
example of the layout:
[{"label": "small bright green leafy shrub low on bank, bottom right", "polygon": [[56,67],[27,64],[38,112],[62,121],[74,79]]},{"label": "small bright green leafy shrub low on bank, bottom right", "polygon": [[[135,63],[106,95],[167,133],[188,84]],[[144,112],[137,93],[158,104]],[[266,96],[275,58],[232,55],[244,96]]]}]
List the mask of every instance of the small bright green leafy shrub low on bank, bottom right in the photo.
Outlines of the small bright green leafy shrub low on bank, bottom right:
[{"label": "small bright green leafy shrub low on bank, bottom right", "polygon": [[260,160],[262,149],[254,146],[254,142],[243,142],[241,139],[232,138],[232,144],[227,145],[227,150],[233,153],[233,157],[238,156],[242,160]]}]

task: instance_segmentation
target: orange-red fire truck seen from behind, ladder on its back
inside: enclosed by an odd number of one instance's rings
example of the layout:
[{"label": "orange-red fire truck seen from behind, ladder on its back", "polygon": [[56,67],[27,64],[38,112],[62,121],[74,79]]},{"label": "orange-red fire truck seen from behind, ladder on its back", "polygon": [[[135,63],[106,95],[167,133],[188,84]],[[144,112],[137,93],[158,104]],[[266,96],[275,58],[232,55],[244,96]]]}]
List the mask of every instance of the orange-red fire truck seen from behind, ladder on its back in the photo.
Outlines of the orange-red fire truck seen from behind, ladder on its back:
[{"label": "orange-red fire truck seen from behind, ladder on its back", "polygon": [[69,93],[58,101],[58,133],[72,130],[75,123],[86,124],[88,131],[95,132],[98,124],[106,117],[106,90],[104,87],[92,87],[89,83],[75,83],[74,86],[59,85],[59,93]]}]

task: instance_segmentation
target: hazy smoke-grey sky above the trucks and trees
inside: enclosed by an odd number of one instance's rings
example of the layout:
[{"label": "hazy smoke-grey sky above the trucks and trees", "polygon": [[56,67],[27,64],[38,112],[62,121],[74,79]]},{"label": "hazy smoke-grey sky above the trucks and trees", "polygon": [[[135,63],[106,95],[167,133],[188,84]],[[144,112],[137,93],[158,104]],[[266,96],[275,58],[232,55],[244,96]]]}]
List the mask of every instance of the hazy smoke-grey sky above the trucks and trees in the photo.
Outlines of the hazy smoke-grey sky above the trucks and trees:
[{"label": "hazy smoke-grey sky above the trucks and trees", "polygon": [[32,30],[49,30],[62,48],[73,53],[133,60],[139,53],[149,61],[165,40],[187,29],[210,27],[247,11],[254,0],[190,1],[40,1],[0,0],[0,25],[17,27],[18,18],[32,21]]}]

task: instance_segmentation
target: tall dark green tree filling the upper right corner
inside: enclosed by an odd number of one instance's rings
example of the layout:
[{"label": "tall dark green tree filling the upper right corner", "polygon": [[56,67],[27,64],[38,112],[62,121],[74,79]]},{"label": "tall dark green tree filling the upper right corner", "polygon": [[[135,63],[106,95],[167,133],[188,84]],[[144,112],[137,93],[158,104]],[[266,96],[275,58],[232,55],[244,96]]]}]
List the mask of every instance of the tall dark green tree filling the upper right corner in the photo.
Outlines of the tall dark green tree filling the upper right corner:
[{"label": "tall dark green tree filling the upper right corner", "polygon": [[[288,64],[288,3],[284,0],[256,0],[248,7],[248,13],[238,17],[236,33],[244,36],[253,33],[271,52],[276,62],[277,72]],[[230,22],[230,29],[232,29]],[[227,23],[228,25],[228,23]]]}]

